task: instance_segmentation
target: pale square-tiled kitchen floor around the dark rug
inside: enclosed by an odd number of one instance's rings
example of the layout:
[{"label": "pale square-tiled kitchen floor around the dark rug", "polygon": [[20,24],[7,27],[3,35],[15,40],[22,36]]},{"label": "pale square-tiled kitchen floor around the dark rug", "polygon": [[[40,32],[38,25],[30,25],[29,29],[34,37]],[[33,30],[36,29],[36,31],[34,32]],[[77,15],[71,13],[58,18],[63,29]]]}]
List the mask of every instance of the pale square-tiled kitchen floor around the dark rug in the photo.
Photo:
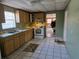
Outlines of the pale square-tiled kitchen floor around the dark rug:
[{"label": "pale square-tiled kitchen floor around the dark rug", "polygon": [[[34,39],[5,59],[70,59],[64,45],[54,42],[55,37]],[[30,43],[39,44],[34,53],[23,51]]]}]

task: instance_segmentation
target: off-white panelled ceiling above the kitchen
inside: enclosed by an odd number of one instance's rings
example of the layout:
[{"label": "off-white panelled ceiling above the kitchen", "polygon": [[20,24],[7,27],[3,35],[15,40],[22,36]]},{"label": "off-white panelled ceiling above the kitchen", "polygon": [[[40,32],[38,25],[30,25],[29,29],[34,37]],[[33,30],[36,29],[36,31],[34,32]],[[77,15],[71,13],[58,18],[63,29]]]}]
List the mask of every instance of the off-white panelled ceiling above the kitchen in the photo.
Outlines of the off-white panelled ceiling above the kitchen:
[{"label": "off-white panelled ceiling above the kitchen", "polygon": [[2,0],[1,3],[27,11],[63,10],[69,0]]}]

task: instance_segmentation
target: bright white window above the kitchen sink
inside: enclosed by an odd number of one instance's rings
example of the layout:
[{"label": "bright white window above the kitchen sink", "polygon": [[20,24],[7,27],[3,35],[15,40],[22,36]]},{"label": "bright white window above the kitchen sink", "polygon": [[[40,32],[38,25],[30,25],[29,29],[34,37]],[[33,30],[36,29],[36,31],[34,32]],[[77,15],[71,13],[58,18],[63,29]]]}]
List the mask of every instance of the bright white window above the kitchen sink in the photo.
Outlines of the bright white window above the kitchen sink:
[{"label": "bright white window above the kitchen sink", "polygon": [[4,11],[5,14],[5,23],[2,23],[2,29],[15,28],[15,13],[11,11]]}]

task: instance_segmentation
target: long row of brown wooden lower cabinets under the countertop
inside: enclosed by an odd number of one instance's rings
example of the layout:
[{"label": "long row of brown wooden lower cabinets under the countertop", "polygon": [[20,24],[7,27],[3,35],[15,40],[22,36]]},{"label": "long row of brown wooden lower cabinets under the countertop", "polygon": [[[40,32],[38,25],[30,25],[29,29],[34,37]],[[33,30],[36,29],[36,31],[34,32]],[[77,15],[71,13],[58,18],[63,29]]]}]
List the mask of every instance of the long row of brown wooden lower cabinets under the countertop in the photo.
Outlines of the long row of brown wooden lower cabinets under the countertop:
[{"label": "long row of brown wooden lower cabinets under the countertop", "polygon": [[33,30],[24,31],[0,40],[2,56],[8,56],[13,51],[21,47],[25,42],[32,39]]}]

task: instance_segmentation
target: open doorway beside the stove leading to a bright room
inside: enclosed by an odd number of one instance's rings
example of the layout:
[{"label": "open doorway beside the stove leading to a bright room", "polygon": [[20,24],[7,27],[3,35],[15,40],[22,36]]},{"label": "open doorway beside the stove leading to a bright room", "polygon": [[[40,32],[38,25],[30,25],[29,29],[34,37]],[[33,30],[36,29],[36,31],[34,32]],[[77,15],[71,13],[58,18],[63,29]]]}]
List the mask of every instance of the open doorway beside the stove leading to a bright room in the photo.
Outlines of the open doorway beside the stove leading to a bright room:
[{"label": "open doorway beside the stove leading to a bright room", "polygon": [[55,36],[56,13],[46,14],[46,37]]}]

